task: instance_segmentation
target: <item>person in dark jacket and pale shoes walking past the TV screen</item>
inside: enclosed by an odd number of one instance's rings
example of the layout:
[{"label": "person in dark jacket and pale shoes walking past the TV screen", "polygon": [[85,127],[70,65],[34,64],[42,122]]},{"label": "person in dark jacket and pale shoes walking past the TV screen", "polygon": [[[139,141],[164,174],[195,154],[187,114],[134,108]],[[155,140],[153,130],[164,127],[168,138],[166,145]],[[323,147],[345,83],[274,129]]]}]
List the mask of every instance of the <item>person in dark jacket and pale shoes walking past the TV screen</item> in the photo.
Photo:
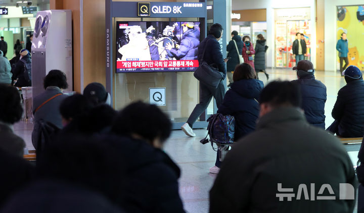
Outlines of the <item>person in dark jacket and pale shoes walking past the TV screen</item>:
[{"label": "person in dark jacket and pale shoes walking past the TV screen", "polygon": [[207,64],[215,64],[223,76],[217,88],[205,85],[200,81],[200,102],[196,105],[187,122],[181,126],[181,129],[190,137],[196,137],[196,134],[192,130],[192,126],[207,109],[212,97],[215,98],[216,105],[219,107],[225,95],[225,86],[222,81],[226,78],[225,63],[228,60],[222,57],[221,47],[218,42],[222,37],[222,33],[222,26],[217,23],[213,24],[210,27],[207,37],[201,41],[198,46],[198,60],[200,63],[201,61],[205,61]]}]

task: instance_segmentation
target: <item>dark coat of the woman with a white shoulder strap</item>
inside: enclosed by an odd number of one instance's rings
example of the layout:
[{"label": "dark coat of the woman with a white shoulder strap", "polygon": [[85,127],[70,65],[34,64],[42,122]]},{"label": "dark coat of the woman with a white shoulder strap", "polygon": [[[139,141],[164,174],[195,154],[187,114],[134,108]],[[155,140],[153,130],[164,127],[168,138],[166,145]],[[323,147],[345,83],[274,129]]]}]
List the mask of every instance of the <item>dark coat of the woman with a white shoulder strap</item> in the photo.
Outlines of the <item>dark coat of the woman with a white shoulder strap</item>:
[{"label": "dark coat of the woman with a white shoulder strap", "polygon": [[[244,46],[241,37],[239,35],[234,35],[233,40],[236,41],[236,44],[238,46],[238,52],[241,53]],[[233,72],[235,70],[235,67],[240,64],[238,52],[233,40],[229,41],[228,46],[226,46],[226,51],[229,52],[228,57],[231,57],[231,59],[226,62],[226,71],[228,72]]]}]

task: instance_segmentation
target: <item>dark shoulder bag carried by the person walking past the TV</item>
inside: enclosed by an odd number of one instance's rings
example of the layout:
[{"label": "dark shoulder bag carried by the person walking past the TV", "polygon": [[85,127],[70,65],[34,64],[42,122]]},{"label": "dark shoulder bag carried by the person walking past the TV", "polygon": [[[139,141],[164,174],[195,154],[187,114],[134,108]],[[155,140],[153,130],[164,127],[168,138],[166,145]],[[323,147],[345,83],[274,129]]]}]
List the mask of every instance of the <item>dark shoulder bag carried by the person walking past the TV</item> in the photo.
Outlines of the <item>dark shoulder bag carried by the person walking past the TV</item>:
[{"label": "dark shoulder bag carried by the person walking past the TV", "polygon": [[204,61],[207,42],[208,41],[206,41],[205,48],[202,54],[201,63],[199,67],[195,70],[194,76],[202,83],[217,88],[220,81],[222,80],[223,73],[219,72],[218,67],[215,64],[209,65]]}]

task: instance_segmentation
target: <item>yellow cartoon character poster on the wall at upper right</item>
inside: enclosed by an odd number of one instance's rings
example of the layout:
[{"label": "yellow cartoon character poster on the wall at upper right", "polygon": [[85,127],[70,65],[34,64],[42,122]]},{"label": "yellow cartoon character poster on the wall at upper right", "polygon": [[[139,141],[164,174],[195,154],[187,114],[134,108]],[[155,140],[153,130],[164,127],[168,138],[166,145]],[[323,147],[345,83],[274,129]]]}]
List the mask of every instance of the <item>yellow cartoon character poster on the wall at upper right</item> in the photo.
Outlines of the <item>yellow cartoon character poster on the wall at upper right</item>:
[{"label": "yellow cartoon character poster on the wall at upper right", "polygon": [[[341,39],[341,33],[347,34],[349,65],[364,71],[364,6],[337,7],[336,23],[337,40]],[[339,57],[337,64],[339,68]]]}]

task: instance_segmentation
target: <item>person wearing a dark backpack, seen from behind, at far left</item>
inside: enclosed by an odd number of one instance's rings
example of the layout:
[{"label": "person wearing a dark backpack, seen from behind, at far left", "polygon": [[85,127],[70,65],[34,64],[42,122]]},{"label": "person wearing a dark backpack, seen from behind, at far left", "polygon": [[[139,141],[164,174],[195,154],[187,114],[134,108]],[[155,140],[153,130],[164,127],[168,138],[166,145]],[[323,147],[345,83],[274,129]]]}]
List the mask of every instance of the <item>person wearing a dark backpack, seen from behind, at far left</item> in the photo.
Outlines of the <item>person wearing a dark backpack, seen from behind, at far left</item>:
[{"label": "person wearing a dark backpack, seen from behind, at far left", "polygon": [[12,79],[16,80],[16,87],[31,86],[31,58],[28,50],[20,51],[20,60],[15,66]]}]

